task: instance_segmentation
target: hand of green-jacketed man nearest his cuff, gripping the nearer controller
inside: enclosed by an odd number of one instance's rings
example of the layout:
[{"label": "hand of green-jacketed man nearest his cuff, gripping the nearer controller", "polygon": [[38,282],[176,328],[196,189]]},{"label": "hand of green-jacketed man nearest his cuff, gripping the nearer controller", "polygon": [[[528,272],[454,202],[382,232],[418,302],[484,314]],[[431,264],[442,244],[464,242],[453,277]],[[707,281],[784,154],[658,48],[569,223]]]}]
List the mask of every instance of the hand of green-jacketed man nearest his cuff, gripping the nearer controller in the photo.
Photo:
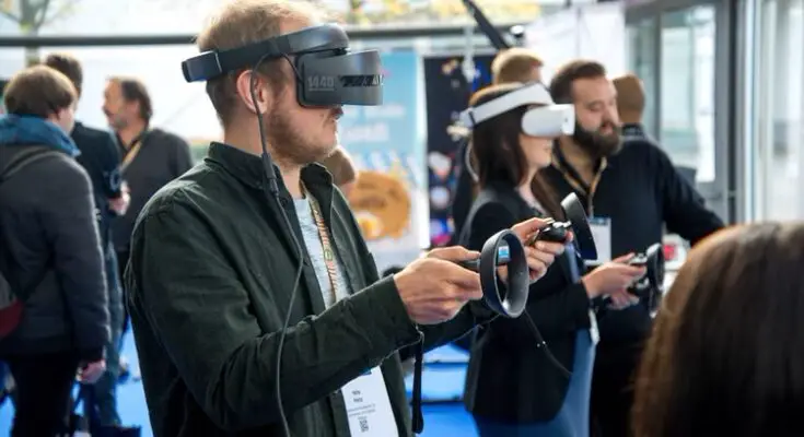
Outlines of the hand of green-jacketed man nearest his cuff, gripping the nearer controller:
[{"label": "hand of green-jacketed man nearest his cuff, gripping the nearer controller", "polygon": [[480,275],[456,263],[480,257],[463,247],[434,249],[394,275],[410,319],[419,324],[451,320],[469,300],[482,298]]}]

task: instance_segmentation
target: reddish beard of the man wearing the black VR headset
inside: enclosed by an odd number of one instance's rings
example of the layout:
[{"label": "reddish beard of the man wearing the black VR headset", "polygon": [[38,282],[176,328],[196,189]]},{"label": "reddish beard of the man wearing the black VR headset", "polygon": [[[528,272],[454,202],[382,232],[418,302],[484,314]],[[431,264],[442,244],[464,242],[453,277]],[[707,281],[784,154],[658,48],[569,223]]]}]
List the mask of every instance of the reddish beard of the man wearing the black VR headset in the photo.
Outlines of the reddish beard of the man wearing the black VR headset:
[{"label": "reddish beard of the man wearing the black VR headset", "polygon": [[273,158],[281,163],[305,166],[329,156],[337,144],[316,144],[303,131],[294,129],[290,117],[280,109],[263,118]]}]

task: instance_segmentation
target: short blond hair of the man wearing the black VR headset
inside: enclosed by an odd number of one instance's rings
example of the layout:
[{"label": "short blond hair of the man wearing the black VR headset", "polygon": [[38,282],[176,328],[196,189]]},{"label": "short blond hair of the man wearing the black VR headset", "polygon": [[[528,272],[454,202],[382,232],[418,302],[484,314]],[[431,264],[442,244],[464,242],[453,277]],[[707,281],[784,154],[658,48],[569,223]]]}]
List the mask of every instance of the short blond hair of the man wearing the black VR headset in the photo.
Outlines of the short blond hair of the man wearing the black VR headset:
[{"label": "short blond hair of the man wearing the black VR headset", "polygon": [[[201,31],[198,49],[203,52],[246,46],[279,36],[281,23],[286,20],[306,21],[323,15],[321,8],[302,1],[235,0],[226,3]],[[286,79],[283,69],[277,68],[277,61],[284,62],[283,59],[267,60],[259,68],[260,74],[275,85],[275,90],[279,90]],[[246,69],[207,81],[207,94],[224,127],[231,121],[237,104],[235,80]]]}]

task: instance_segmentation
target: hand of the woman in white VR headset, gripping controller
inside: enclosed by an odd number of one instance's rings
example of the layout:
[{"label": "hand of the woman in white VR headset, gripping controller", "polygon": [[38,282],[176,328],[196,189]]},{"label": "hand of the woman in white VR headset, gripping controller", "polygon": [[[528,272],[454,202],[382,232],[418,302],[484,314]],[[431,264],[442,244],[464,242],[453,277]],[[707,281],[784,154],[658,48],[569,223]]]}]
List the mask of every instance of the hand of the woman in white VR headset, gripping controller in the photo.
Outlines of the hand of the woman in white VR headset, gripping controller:
[{"label": "hand of the woman in white VR headset, gripping controller", "polygon": [[627,264],[631,257],[633,255],[629,253],[614,259],[583,276],[581,281],[590,298],[607,295],[611,298],[613,309],[624,309],[639,303],[637,296],[628,293],[628,287],[645,274],[645,268]]}]

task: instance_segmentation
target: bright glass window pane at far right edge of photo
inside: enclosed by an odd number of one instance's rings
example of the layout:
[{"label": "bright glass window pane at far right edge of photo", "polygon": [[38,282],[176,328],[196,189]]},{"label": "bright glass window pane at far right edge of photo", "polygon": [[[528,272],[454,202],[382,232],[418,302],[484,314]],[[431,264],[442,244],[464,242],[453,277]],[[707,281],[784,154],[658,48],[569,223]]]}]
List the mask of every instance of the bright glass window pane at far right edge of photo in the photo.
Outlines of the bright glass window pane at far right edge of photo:
[{"label": "bright glass window pane at far right edge of photo", "polygon": [[765,0],[758,32],[754,110],[757,217],[804,217],[804,0]]}]

